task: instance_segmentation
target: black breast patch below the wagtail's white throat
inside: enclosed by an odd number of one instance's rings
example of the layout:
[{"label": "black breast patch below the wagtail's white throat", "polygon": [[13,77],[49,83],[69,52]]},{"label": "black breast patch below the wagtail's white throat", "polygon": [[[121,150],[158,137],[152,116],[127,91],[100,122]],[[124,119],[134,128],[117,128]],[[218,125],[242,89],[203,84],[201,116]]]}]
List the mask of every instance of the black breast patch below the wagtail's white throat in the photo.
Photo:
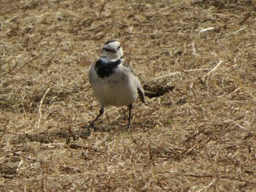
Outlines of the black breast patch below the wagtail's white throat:
[{"label": "black breast patch below the wagtail's white throat", "polygon": [[118,64],[121,64],[121,60],[118,59],[114,62],[105,63],[101,59],[96,61],[94,66],[95,71],[97,72],[99,78],[105,78],[113,74]]}]

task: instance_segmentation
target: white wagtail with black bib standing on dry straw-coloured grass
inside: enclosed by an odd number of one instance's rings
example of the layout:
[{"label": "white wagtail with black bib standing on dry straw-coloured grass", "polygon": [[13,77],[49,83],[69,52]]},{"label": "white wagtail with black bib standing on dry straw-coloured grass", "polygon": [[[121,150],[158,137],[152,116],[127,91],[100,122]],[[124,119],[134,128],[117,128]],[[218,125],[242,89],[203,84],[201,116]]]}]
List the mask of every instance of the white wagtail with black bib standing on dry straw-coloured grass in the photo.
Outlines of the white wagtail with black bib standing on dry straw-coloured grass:
[{"label": "white wagtail with black bib standing on dry straw-coloured grass", "polygon": [[140,80],[123,58],[124,54],[120,42],[115,40],[105,42],[102,57],[89,70],[89,82],[94,96],[100,104],[99,115],[90,123],[92,127],[103,114],[104,107],[113,105],[129,107],[127,128],[130,128],[132,104],[138,95],[140,101],[145,103],[144,90],[140,85]]}]

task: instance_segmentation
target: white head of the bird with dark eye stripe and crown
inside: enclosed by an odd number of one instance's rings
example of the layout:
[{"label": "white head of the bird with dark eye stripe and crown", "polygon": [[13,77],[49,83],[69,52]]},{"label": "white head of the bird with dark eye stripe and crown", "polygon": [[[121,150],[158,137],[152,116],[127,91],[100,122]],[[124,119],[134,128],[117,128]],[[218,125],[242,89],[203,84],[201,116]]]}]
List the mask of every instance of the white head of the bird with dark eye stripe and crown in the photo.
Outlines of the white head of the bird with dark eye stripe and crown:
[{"label": "white head of the bird with dark eye stripe and crown", "polygon": [[120,42],[115,40],[105,42],[102,49],[102,57],[107,60],[122,59],[124,53]]}]

